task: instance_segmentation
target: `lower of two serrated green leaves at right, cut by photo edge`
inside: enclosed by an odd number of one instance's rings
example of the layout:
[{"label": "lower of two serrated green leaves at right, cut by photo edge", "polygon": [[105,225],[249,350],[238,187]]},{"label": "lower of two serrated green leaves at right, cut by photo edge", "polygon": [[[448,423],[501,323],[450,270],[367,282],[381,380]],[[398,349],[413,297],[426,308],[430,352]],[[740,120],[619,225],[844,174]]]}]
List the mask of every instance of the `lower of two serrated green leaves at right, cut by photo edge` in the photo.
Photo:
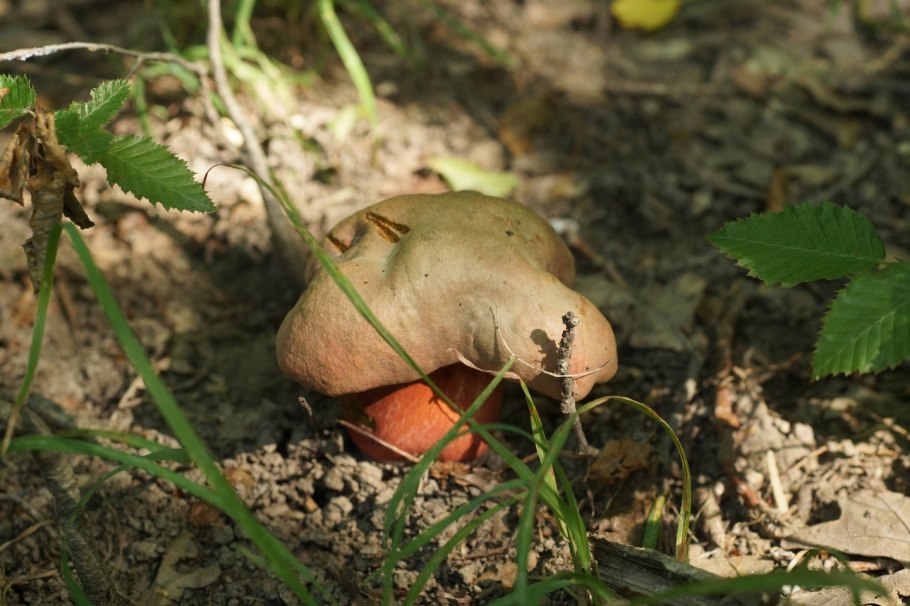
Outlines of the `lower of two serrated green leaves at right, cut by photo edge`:
[{"label": "lower of two serrated green leaves at right, cut by photo edge", "polygon": [[910,360],[910,263],[862,274],[831,304],[815,346],[812,377],[878,372]]}]

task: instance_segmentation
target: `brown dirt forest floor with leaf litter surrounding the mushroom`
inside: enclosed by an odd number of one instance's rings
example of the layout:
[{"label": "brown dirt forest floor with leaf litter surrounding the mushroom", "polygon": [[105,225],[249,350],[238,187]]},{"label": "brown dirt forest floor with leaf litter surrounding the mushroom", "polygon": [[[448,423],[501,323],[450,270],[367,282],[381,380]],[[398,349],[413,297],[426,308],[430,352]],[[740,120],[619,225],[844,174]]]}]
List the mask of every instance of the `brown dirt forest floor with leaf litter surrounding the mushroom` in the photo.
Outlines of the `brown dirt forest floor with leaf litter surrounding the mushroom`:
[{"label": "brown dirt forest floor with leaf litter surrounding the mushroom", "polygon": [[[198,44],[204,29],[195,4],[157,12],[157,3],[58,4],[0,1],[0,48],[82,39],[153,50],[164,48],[162,22],[182,44]],[[910,594],[906,365],[810,382],[820,318],[839,285],[765,288],[705,243],[730,219],[832,200],[866,213],[889,256],[910,258],[907,3],[896,3],[902,21],[884,0],[697,0],[652,34],[622,29],[596,0],[380,4],[411,59],[343,14],[379,97],[375,133],[363,120],[345,127],[357,96],[315,11],[282,14],[270,7],[293,3],[262,4],[253,25],[263,48],[303,76],[286,96],[273,83],[248,81],[243,100],[314,233],[392,195],[445,191],[428,166],[435,157],[511,171],[511,197],[560,226],[576,253],[576,288],[615,328],[620,370],[592,397],[647,402],[686,446],[696,497],[692,562],[727,575],[770,570],[793,562],[808,541],[840,549],[857,569]],[[434,6],[517,66],[446,26]],[[128,65],[76,52],[2,69],[29,74],[61,106]],[[150,80],[148,94],[154,136],[194,171],[237,160],[229,145],[236,128],[207,122],[199,99],[175,79]],[[140,132],[135,108],[113,128]],[[300,293],[274,254],[255,184],[218,169],[208,184],[217,211],[187,216],[110,190],[97,167],[80,165],[79,173],[96,223],[85,233],[92,253],[240,495],[334,599],[374,603],[384,505],[409,465],[364,459],[337,424],[337,402],[279,372],[275,332]],[[0,203],[6,400],[22,379],[34,320],[20,248],[27,221],[28,209]],[[68,245],[56,286],[33,391],[80,427],[174,443]],[[560,421],[557,406],[545,405],[544,414],[550,429]],[[517,389],[507,392],[505,418],[527,426]],[[584,425],[602,454],[565,463],[592,535],[640,544],[649,508],[666,495],[660,546],[672,552],[680,470],[670,441],[619,405],[595,410]],[[506,439],[516,453],[533,453]],[[72,463],[86,486],[111,469]],[[507,477],[495,456],[437,466],[410,530]],[[10,457],[0,467],[0,603],[68,603],[57,572],[60,534],[42,524],[53,511],[37,464]],[[514,578],[517,519],[512,509],[484,523],[420,603],[503,595]],[[156,576],[170,583],[170,603],[296,603],[244,557],[248,541],[227,519],[143,473],[105,483],[85,522],[134,603]],[[543,510],[539,526],[533,572],[566,570],[568,550]],[[429,556],[399,568],[396,586],[407,589]],[[811,603],[806,593],[794,599]],[[169,603],[159,599],[148,603]]]}]

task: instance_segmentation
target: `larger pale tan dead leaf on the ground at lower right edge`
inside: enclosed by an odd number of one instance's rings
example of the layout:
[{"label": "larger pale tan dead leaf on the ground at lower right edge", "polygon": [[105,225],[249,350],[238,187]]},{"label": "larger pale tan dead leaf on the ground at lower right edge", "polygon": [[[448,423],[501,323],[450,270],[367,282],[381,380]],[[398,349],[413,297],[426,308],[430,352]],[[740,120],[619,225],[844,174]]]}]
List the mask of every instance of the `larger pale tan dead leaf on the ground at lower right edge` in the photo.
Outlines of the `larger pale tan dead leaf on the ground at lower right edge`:
[{"label": "larger pale tan dead leaf on the ground at lower right edge", "polygon": [[910,565],[910,498],[865,490],[847,497],[840,506],[839,519],[805,528],[786,538],[783,547],[824,547]]}]

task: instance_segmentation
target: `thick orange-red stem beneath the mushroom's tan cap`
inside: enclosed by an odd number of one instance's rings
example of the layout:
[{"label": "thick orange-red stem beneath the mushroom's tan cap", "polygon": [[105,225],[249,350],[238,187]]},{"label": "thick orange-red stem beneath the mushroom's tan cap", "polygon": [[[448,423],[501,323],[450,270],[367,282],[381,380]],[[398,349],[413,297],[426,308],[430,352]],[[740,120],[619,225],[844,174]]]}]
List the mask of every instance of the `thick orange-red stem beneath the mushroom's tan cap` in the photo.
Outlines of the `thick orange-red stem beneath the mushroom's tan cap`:
[{"label": "thick orange-red stem beneath the mushroom's tan cap", "polygon": [[[492,380],[486,373],[463,364],[454,364],[429,375],[449,399],[466,410]],[[497,421],[502,408],[502,385],[474,414],[478,423]],[[366,432],[348,431],[351,440],[364,454],[380,461],[402,460],[403,457],[383,446],[386,442],[405,452],[422,455],[433,447],[460,415],[439,398],[423,381],[403,385],[377,387],[345,396],[342,417]],[[378,440],[371,439],[372,434]],[[467,461],[480,456],[487,443],[480,436],[468,433],[449,442],[439,458],[443,461]]]}]

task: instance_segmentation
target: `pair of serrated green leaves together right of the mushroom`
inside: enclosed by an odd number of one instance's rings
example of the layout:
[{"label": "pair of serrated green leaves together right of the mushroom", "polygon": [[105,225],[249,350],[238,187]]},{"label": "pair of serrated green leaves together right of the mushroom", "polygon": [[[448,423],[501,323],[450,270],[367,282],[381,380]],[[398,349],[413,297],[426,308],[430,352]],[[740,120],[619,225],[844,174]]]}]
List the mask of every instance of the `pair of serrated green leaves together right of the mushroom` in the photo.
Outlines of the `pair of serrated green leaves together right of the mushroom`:
[{"label": "pair of serrated green leaves together right of the mushroom", "polygon": [[910,262],[885,262],[868,217],[830,202],[730,222],[708,242],[767,285],[849,278],[823,319],[812,378],[910,360]]}]

